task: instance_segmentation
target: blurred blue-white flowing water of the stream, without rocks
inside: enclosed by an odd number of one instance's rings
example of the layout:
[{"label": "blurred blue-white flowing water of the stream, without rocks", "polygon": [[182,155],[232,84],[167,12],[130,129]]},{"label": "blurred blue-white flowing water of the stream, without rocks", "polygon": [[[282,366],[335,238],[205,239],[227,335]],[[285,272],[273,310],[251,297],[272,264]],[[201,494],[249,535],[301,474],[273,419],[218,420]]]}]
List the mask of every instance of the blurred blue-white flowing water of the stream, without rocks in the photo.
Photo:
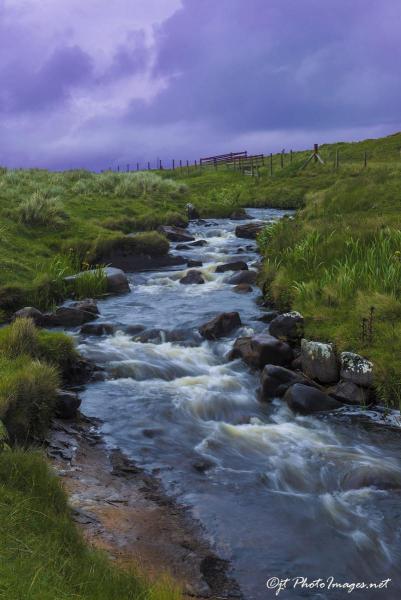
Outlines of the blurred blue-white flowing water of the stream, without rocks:
[{"label": "blurred blue-white flowing water of the stream, without rocks", "polygon": [[[274,221],[284,213],[249,210]],[[380,582],[387,590],[353,598],[401,597],[401,493],[347,489],[356,471],[401,481],[401,433],[340,410],[296,416],[279,400],[257,401],[258,376],[228,361],[233,339],[263,331],[259,292],[237,294],[216,264],[258,259],[252,241],[236,238],[238,221],[194,223],[204,247],[175,251],[204,262],[204,285],[181,285],[185,271],[130,275],[131,293],[99,303],[112,336],[78,336],[81,352],[106,370],[88,385],[82,410],[102,419],[106,440],[162,479],[192,508],[218,552],[228,558],[247,600],[272,598],[276,576],[333,576]],[[222,311],[243,327],[221,341],[197,328]],[[77,334],[78,335],[78,334]],[[297,587],[280,598],[345,598],[336,589]]]}]

